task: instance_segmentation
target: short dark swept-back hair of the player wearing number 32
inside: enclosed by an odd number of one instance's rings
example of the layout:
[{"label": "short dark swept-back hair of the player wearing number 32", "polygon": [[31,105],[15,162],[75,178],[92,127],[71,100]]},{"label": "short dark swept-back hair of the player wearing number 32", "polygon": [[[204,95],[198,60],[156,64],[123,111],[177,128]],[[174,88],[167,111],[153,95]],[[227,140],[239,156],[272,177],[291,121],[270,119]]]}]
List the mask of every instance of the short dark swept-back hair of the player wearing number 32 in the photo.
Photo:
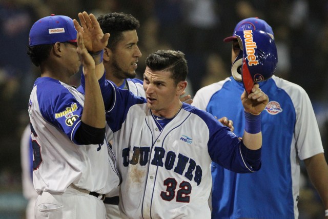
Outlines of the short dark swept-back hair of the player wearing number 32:
[{"label": "short dark swept-back hair of the player wearing number 32", "polygon": [[158,50],[147,56],[146,65],[153,71],[170,71],[177,85],[181,81],[186,81],[188,65],[185,53],[175,50]]}]

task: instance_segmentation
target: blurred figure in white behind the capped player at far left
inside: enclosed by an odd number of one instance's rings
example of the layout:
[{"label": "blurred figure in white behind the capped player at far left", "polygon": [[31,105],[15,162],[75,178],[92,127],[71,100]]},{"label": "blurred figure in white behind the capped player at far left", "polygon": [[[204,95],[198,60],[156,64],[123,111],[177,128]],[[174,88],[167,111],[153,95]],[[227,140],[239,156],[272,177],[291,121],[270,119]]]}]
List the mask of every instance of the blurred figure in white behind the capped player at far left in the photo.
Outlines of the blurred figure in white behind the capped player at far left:
[{"label": "blurred figure in white behind the capped player at far left", "polygon": [[26,219],[34,218],[34,205],[37,193],[33,187],[33,149],[30,124],[26,126],[20,139],[20,165],[22,166],[23,195],[28,201]]}]

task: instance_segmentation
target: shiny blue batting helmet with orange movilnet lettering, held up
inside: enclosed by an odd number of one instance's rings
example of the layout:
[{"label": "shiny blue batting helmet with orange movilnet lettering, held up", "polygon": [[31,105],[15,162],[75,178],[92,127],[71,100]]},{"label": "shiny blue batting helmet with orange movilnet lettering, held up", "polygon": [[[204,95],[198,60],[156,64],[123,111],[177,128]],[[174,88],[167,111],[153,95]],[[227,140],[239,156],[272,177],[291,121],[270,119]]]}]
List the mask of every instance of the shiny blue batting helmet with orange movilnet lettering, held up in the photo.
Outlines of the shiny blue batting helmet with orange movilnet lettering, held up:
[{"label": "shiny blue batting helmet with orange movilnet lettering, held up", "polygon": [[241,50],[232,71],[241,66],[242,83],[249,94],[254,83],[272,77],[278,63],[277,48],[273,38],[261,30],[237,31],[235,35]]}]

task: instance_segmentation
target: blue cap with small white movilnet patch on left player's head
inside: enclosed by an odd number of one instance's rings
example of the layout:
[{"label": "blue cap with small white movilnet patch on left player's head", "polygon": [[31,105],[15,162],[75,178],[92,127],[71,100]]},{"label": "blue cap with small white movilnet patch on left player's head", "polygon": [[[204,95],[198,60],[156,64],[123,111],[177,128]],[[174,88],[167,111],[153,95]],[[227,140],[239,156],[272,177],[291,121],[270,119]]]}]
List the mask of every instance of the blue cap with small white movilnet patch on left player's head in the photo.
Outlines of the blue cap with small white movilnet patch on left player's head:
[{"label": "blue cap with small white movilnet patch on left player's head", "polygon": [[33,24],[29,34],[29,45],[76,42],[76,34],[72,18],[52,14]]}]

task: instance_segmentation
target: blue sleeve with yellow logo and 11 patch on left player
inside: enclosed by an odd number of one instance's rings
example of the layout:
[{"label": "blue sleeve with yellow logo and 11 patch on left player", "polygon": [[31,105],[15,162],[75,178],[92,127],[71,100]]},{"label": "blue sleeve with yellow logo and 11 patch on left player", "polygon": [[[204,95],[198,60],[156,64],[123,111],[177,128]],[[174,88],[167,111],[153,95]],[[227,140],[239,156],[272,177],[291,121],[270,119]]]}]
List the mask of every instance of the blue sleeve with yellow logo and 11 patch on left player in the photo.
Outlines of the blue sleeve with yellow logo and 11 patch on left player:
[{"label": "blue sleeve with yellow logo and 11 patch on left player", "polygon": [[72,142],[80,126],[83,107],[64,86],[41,83],[37,86],[39,110],[46,121],[63,131]]}]

